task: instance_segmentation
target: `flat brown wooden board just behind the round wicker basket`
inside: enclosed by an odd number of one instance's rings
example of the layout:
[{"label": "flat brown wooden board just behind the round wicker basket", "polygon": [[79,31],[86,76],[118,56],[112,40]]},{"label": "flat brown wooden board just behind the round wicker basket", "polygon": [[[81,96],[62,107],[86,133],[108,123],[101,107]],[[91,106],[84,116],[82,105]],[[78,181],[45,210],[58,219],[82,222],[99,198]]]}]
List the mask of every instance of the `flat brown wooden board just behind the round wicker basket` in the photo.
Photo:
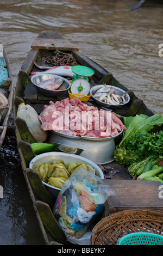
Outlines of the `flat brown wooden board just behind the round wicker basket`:
[{"label": "flat brown wooden board just behind the round wicker basket", "polygon": [[151,209],[163,211],[163,202],[159,198],[159,181],[143,180],[103,180],[112,190],[115,196],[110,196],[105,202],[103,217],[113,212],[128,209]]}]

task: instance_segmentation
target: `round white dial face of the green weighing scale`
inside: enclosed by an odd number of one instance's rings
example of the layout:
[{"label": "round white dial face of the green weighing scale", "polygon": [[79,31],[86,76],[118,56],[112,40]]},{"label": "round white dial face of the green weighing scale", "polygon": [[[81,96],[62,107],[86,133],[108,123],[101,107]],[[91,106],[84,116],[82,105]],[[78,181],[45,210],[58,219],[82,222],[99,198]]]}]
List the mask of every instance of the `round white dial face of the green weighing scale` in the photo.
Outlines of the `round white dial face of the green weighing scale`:
[{"label": "round white dial face of the green weighing scale", "polygon": [[72,94],[87,95],[90,92],[90,83],[85,79],[79,78],[75,80],[71,85]]}]

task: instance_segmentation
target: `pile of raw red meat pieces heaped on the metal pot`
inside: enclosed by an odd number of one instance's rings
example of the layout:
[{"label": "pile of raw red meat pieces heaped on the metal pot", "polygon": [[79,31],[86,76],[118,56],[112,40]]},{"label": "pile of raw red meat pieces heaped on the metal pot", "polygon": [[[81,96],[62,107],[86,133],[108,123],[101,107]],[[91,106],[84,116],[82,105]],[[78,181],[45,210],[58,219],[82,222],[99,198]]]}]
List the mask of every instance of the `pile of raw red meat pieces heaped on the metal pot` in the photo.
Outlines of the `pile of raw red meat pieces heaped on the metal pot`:
[{"label": "pile of raw red meat pieces heaped on the metal pot", "polygon": [[72,136],[112,137],[116,136],[126,126],[115,114],[87,106],[80,100],[64,99],[49,102],[40,115],[42,129],[53,130]]}]

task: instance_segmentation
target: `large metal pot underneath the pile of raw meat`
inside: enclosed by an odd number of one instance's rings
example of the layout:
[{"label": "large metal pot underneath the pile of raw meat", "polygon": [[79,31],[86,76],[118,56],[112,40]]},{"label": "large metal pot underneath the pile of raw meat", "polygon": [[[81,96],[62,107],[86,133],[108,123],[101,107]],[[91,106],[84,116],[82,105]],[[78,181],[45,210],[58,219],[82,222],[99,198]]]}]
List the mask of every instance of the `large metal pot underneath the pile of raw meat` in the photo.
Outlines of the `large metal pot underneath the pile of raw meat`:
[{"label": "large metal pot underneath the pile of raw meat", "polygon": [[95,137],[77,137],[65,135],[64,133],[52,131],[49,136],[49,143],[61,143],[72,147],[83,149],[80,156],[86,157],[94,163],[106,164],[114,161],[115,138],[114,137],[95,138]]}]

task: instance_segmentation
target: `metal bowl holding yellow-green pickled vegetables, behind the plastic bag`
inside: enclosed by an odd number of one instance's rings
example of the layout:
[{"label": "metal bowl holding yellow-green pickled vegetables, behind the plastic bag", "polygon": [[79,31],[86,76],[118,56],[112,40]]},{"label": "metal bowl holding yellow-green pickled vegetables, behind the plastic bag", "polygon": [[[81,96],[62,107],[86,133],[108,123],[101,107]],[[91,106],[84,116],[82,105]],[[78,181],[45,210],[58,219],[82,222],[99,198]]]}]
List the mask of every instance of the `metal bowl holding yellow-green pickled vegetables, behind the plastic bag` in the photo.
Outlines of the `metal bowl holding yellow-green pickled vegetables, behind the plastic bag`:
[{"label": "metal bowl holding yellow-green pickled vegetables, behind the plastic bag", "polygon": [[[78,155],[72,155],[68,153],[62,153],[62,152],[49,152],[49,153],[43,153],[38,156],[35,156],[29,163],[29,168],[30,169],[35,169],[37,166],[39,166],[40,163],[42,162],[53,162],[57,160],[63,160],[65,164],[70,164],[70,163],[87,163],[89,164],[92,168],[95,169],[95,174],[101,178],[104,179],[104,174],[97,166],[97,164],[93,163],[92,161],[86,159],[85,157],[78,156]],[[53,187],[51,185],[48,185],[47,183],[43,182],[43,185],[45,185],[47,191],[51,194],[53,198],[57,198],[58,194],[60,192],[60,188],[58,187]]]}]

